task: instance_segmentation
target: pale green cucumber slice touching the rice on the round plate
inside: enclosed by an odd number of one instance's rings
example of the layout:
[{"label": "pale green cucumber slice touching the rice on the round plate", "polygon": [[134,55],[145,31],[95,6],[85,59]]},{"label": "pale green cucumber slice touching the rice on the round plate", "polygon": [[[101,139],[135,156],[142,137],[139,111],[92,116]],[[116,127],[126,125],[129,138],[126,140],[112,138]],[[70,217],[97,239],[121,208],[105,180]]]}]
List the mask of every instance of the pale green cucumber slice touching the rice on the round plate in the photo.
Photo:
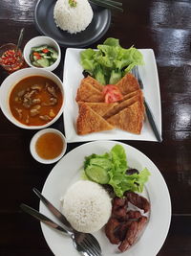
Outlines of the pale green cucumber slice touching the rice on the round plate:
[{"label": "pale green cucumber slice touching the rice on the round plate", "polygon": [[107,171],[100,166],[89,165],[85,169],[85,174],[93,181],[99,184],[107,184],[110,180],[110,177]]}]

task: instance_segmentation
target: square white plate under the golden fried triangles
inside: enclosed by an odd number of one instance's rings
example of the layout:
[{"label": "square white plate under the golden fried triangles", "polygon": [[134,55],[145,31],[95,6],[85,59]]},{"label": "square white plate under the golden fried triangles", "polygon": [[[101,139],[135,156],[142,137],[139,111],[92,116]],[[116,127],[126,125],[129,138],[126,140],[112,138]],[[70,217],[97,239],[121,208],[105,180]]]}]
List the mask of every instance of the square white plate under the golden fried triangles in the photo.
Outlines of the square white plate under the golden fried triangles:
[{"label": "square white plate under the golden fried triangles", "polygon": [[[94,140],[143,140],[157,141],[147,118],[141,134],[133,134],[121,129],[94,132],[87,135],[77,135],[75,122],[78,115],[78,106],[75,102],[76,91],[83,79],[82,66],[80,65],[80,52],[82,49],[68,48],[65,56],[63,84],[66,93],[64,110],[64,127],[67,142],[81,142]],[[156,124],[161,134],[161,107],[159,93],[159,78],[156,59],[152,49],[139,50],[144,58],[145,65],[139,66],[138,71],[144,84],[143,94],[150,105]]]}]

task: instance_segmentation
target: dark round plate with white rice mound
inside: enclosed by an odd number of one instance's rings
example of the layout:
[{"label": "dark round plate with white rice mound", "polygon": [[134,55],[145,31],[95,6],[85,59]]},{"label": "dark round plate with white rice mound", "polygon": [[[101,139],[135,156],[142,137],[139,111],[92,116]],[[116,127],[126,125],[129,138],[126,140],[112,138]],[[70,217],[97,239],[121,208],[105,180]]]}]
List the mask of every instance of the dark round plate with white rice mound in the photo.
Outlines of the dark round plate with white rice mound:
[{"label": "dark round plate with white rice mound", "polygon": [[70,1],[38,0],[34,10],[36,29],[61,47],[81,48],[95,43],[110,28],[111,10],[87,0],[72,1],[76,6],[71,7]]}]

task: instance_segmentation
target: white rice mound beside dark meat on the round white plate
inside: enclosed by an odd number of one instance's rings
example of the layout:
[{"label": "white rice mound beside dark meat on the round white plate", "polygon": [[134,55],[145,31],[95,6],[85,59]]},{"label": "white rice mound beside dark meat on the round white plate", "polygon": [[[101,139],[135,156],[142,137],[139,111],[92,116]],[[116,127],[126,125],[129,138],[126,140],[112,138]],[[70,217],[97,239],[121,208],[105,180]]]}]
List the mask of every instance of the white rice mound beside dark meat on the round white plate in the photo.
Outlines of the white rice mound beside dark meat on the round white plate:
[{"label": "white rice mound beside dark meat on the round white plate", "polygon": [[62,198],[62,212],[75,230],[91,233],[103,227],[111,216],[108,193],[97,183],[80,180]]}]

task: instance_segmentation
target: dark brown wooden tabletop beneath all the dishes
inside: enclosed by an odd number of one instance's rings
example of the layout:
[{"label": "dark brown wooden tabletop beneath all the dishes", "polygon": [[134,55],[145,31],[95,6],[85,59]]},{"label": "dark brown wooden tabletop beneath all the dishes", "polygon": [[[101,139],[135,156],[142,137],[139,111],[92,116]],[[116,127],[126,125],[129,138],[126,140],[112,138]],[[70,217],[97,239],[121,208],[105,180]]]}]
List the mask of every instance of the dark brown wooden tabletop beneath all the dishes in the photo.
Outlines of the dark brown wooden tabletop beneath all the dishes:
[{"label": "dark brown wooden tabletop beneath all the dishes", "polygon": [[[191,1],[123,0],[124,12],[112,14],[106,35],[122,46],[154,49],[162,107],[162,143],[123,141],[143,151],[159,168],[172,200],[172,221],[159,256],[191,255]],[[39,35],[33,22],[36,1],[0,1],[0,45],[16,43],[25,27],[22,47]],[[45,21],[46,22],[46,21]],[[95,47],[96,44],[90,45]],[[54,71],[62,79],[63,59]],[[0,69],[0,82],[7,77]],[[62,117],[53,125],[64,132]],[[53,165],[32,159],[29,144],[36,130],[14,127],[0,111],[0,255],[53,255],[39,222],[21,212],[22,202],[38,207],[32,187],[42,189]],[[78,144],[69,144],[68,151]],[[162,198],[161,198],[162,200]],[[154,242],[155,243],[155,242]],[[149,244],[145,244],[149,246]],[[63,252],[63,255],[67,253]],[[128,254],[127,254],[128,255]],[[146,255],[142,255],[146,256]]]}]

